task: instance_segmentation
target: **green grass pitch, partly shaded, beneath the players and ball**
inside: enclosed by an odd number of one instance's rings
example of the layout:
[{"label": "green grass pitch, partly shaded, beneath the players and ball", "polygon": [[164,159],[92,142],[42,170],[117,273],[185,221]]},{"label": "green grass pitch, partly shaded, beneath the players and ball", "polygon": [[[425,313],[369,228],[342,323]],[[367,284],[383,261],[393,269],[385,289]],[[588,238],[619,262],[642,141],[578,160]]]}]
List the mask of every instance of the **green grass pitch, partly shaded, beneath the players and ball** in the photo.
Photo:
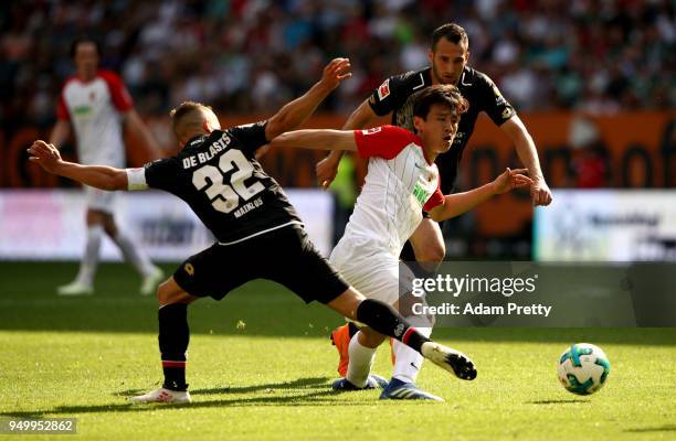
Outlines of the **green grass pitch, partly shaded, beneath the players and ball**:
[{"label": "green grass pitch, partly shaded, beneath the players and ball", "polygon": [[[0,262],[0,418],[76,418],[76,439],[92,440],[676,439],[676,329],[439,329],[478,378],[426,364],[419,385],[445,404],[379,401],[378,391],[330,391],[328,334],[341,319],[264,281],[190,306],[191,405],[130,405],[161,377],[156,300],[122,265],[102,266],[95,295],[57,298],[75,271]],[[557,380],[558,357],[575,342],[611,359],[596,395]],[[389,377],[388,348],[374,372]]]}]

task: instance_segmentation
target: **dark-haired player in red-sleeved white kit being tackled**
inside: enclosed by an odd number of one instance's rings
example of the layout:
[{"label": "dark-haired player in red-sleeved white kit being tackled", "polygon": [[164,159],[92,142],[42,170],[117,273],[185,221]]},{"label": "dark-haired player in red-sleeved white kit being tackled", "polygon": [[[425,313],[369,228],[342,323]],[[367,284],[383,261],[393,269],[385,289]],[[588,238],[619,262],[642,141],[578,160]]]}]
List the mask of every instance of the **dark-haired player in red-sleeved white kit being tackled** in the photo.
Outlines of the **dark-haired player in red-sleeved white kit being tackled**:
[{"label": "dark-haired player in red-sleeved white kit being tackled", "polygon": [[[368,173],[355,212],[330,261],[367,298],[399,302],[399,255],[422,220],[422,211],[440,222],[515,187],[529,186],[527,169],[509,170],[495,181],[465,193],[443,195],[434,160],[448,151],[467,101],[453,85],[430,86],[413,101],[416,135],[395,126],[368,130],[298,130],[273,140],[275,147],[356,150],[369,158]],[[404,314],[405,315],[405,314]],[[416,330],[429,336],[429,321]],[[415,323],[413,323],[415,324]],[[374,386],[369,378],[376,348],[384,336],[361,326],[349,344],[347,375],[334,383],[336,390]],[[405,341],[405,338],[403,340]],[[442,400],[415,386],[422,357],[397,346],[392,379],[382,399]]]}]

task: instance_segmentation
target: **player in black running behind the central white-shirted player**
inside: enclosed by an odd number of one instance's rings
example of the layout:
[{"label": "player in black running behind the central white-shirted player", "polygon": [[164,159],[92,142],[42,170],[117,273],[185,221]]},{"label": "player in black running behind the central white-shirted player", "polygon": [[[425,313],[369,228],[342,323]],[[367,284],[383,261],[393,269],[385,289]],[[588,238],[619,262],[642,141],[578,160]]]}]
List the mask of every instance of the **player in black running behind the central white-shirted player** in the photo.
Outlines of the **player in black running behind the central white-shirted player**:
[{"label": "player in black running behind the central white-shirted player", "polygon": [[[455,186],[457,168],[463,150],[474,131],[478,114],[485,111],[516,146],[517,153],[534,181],[530,195],[534,205],[548,205],[551,192],[545,182],[538,152],[526,126],[516,115],[511,105],[503,97],[495,83],[484,73],[467,65],[469,60],[469,39],[465,30],[447,23],[437,28],[432,34],[432,46],[427,54],[430,67],[416,72],[394,75],[385,79],[372,95],[365,100],[347,119],[344,129],[361,129],[372,123],[379,116],[392,112],[392,123],[413,130],[412,96],[416,92],[436,84],[456,85],[469,109],[463,114],[455,140],[448,153],[436,160],[442,176],[441,190],[448,194]],[[317,164],[317,179],[325,189],[336,176],[342,152],[332,151]],[[441,228],[435,222],[424,218],[415,233],[404,246],[401,259],[418,261],[413,270],[421,277],[434,271],[445,255],[445,245]],[[340,355],[338,373],[346,375],[349,341],[357,332],[352,325],[344,325],[331,333],[331,341]],[[395,358],[408,358],[405,346],[393,343]],[[409,356],[404,354],[409,353]],[[405,366],[402,366],[405,368]]]}]

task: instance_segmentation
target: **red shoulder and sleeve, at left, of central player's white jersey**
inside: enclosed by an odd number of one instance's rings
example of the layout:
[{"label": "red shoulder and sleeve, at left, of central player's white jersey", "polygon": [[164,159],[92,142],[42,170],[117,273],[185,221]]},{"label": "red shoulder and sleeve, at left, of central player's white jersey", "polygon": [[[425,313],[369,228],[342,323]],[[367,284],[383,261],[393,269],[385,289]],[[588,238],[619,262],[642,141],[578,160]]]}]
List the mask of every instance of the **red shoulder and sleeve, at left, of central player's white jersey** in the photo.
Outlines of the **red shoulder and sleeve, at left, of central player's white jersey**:
[{"label": "red shoulder and sleeve, at left, of central player's white jersey", "polygon": [[411,143],[422,144],[415,135],[397,126],[355,130],[355,142],[359,155],[363,159],[370,157],[392,159]]}]

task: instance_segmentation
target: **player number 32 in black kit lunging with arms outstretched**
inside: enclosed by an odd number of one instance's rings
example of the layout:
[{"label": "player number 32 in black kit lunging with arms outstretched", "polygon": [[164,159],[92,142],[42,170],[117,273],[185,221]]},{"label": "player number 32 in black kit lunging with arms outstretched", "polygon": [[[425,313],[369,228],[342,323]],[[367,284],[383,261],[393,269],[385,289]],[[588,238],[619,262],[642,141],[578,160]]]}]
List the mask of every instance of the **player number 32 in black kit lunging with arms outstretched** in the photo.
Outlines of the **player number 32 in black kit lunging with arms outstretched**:
[{"label": "player number 32 in black kit lunging with arms outstretched", "polygon": [[225,130],[221,130],[211,108],[183,103],[171,111],[181,151],[142,169],[65,162],[54,146],[41,140],[29,148],[30,160],[47,172],[91,186],[154,187],[170,192],[190,205],[218,240],[188,258],[158,288],[159,347],[165,380],[162,387],[134,397],[133,401],[189,402],[188,304],[202,297],[221,300],[234,288],[258,278],[274,280],[307,303],[317,300],[344,316],[401,340],[458,378],[476,377],[467,356],[432,342],[390,305],[366,299],[349,287],[317,251],[286,195],[255,159],[260,147],[303,123],[351,75],[349,68],[349,60],[336,58],[305,95],[266,121]]}]

